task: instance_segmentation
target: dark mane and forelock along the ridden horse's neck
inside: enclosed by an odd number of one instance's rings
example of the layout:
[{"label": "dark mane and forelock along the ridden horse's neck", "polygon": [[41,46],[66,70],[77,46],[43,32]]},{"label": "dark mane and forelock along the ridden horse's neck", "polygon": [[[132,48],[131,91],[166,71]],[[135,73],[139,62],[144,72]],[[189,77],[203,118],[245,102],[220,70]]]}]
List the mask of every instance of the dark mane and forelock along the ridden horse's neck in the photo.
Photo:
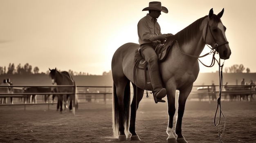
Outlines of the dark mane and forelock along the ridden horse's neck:
[{"label": "dark mane and forelock along the ridden horse's neck", "polygon": [[[200,31],[200,24],[202,23],[204,18],[207,17],[208,15],[196,20],[186,28],[182,29],[180,32],[176,33],[174,36],[170,37],[166,41],[166,43],[169,41],[177,40],[181,46],[183,43],[189,42],[189,40],[191,40],[191,37],[195,37],[198,34],[198,31]],[[213,14],[212,19],[215,22],[220,22],[220,18],[215,14]]]}]

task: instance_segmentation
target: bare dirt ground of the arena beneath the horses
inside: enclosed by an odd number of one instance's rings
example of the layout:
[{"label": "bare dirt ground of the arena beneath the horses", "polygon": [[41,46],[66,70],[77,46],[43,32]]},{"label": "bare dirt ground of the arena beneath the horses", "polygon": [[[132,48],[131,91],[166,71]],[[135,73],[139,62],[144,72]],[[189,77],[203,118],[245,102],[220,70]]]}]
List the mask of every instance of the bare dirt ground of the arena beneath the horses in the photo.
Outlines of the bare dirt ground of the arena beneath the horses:
[{"label": "bare dirt ground of the arena beneath the horses", "polygon": [[[214,126],[216,102],[187,101],[182,132],[189,143],[218,143]],[[226,119],[224,143],[256,141],[256,101],[222,101]],[[137,112],[136,130],[141,141],[166,143],[167,103],[143,99]],[[224,125],[223,118],[221,129]],[[56,112],[56,105],[0,106],[1,143],[119,143],[112,137],[112,101],[82,103],[75,116]]]}]

